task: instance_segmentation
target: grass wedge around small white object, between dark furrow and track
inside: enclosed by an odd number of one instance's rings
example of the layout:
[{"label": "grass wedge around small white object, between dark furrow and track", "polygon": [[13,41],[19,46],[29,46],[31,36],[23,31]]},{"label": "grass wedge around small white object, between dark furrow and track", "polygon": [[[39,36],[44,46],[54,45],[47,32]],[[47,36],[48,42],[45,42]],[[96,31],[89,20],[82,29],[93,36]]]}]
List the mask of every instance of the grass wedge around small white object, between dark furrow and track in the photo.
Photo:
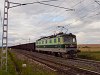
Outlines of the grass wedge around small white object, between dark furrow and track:
[{"label": "grass wedge around small white object, between dark furrow and track", "polygon": [[[17,59],[17,64],[20,68],[21,75],[55,75],[54,72],[44,69],[42,66],[37,64],[29,64],[27,60]],[[27,67],[22,67],[22,64],[27,64]]]}]

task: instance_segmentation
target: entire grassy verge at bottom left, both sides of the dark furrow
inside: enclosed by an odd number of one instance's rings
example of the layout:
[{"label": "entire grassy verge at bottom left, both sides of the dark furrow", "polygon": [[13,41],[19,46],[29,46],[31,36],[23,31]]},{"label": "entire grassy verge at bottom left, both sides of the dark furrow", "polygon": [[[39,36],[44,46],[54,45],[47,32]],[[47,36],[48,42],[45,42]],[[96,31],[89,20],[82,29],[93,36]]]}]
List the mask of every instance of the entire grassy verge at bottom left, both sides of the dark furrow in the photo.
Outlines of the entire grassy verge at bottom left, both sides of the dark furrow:
[{"label": "entire grassy verge at bottom left, both sides of the dark furrow", "polygon": [[[48,70],[38,64],[30,64],[27,60],[21,60],[17,58],[16,54],[11,53],[12,57],[8,54],[8,72],[1,71],[0,75],[57,75],[56,72]],[[14,61],[16,63],[14,63]],[[19,73],[16,72],[16,66],[19,69]],[[22,64],[26,64],[26,67],[22,67]]]}]

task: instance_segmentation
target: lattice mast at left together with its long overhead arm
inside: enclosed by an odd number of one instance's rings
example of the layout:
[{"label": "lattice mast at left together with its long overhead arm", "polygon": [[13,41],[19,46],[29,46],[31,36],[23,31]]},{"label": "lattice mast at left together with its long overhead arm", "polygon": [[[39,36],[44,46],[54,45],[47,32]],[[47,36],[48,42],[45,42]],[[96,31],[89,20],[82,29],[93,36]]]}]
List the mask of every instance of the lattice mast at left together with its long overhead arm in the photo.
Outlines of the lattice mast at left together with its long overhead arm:
[{"label": "lattice mast at left together with its long overhead arm", "polygon": [[[56,0],[51,0],[51,1],[56,1]],[[4,2],[4,18],[3,18],[3,33],[2,33],[2,51],[1,51],[1,70],[4,70],[7,72],[7,51],[8,51],[8,9],[13,8],[13,7],[18,7],[18,6],[23,6],[23,5],[29,5],[29,4],[42,4],[42,5],[47,5],[51,7],[56,7],[60,9],[65,9],[66,11],[74,11],[74,9],[69,9],[65,7],[60,7],[60,6],[55,6],[51,4],[46,4],[45,2],[50,2],[48,1],[40,1],[40,2],[32,2],[32,3],[14,3],[14,2],[9,2],[8,0],[5,0]],[[11,6],[13,4],[13,6]],[[30,40],[29,40],[30,42]]]}]

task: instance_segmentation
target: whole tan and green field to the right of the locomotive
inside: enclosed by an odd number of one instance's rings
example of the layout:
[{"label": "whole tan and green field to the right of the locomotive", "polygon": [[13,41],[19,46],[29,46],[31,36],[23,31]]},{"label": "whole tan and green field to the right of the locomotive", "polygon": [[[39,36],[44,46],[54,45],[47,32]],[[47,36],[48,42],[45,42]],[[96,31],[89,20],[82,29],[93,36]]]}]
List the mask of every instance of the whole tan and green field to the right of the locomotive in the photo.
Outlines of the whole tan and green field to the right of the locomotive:
[{"label": "whole tan and green field to the right of the locomotive", "polygon": [[81,52],[78,53],[79,58],[98,60],[100,61],[100,47],[79,47]]}]

